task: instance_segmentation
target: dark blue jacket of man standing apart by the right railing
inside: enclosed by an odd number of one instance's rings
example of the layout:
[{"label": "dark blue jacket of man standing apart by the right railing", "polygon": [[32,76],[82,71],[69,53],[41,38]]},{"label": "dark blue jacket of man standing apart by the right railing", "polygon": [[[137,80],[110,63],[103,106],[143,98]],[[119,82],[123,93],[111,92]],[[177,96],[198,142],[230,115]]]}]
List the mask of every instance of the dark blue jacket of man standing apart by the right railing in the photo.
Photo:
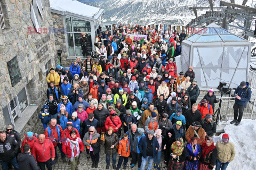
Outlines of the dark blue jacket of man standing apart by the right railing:
[{"label": "dark blue jacket of man standing apart by the right railing", "polygon": [[238,100],[236,98],[235,103],[237,103],[238,105],[245,106],[247,102],[251,100],[251,95],[252,95],[252,90],[250,88],[249,82],[246,82],[246,87],[243,89],[237,87],[237,89],[234,92],[234,95],[238,95],[239,97],[241,97],[241,100]]}]

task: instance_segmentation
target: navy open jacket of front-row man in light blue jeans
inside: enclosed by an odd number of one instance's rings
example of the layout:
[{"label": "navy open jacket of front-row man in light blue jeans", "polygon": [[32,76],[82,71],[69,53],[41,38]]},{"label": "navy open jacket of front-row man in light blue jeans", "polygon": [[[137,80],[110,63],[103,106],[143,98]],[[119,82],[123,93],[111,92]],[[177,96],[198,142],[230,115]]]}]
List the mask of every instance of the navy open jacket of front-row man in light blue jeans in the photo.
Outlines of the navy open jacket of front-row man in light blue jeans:
[{"label": "navy open jacket of front-row man in light blue jeans", "polygon": [[[147,137],[147,136],[142,137],[141,140],[139,141],[139,145],[138,145],[138,147],[139,147],[139,149],[140,149],[140,152],[141,152],[141,154],[142,154],[142,156],[143,156],[144,158],[147,157],[147,145],[148,145],[147,140],[148,140],[148,137]],[[153,139],[152,139],[152,140],[153,140],[153,143],[152,143],[153,158],[155,158],[155,156],[156,156],[156,154],[157,154],[157,152],[158,152],[158,149],[159,149],[159,143],[157,142],[157,139],[156,139],[156,137],[154,137],[154,136],[153,136]],[[157,148],[157,150],[156,150],[156,148]]]}]

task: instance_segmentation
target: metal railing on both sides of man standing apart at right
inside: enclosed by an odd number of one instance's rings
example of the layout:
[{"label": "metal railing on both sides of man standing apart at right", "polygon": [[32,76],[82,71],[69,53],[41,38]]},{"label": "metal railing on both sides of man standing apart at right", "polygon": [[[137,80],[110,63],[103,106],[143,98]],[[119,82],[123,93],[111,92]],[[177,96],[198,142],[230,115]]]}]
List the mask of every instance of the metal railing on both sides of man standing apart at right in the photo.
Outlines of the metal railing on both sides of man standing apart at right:
[{"label": "metal railing on both sides of man standing apart at right", "polygon": [[[220,122],[227,122],[230,120],[234,120],[234,109],[233,106],[235,104],[234,97],[221,97],[220,99],[220,107],[219,112],[217,110],[217,115],[219,113],[219,118],[217,120],[217,124]],[[256,97],[251,97],[251,100],[248,101],[247,105],[244,108],[243,118],[247,119],[256,119]],[[218,116],[217,116],[218,117]]]}]

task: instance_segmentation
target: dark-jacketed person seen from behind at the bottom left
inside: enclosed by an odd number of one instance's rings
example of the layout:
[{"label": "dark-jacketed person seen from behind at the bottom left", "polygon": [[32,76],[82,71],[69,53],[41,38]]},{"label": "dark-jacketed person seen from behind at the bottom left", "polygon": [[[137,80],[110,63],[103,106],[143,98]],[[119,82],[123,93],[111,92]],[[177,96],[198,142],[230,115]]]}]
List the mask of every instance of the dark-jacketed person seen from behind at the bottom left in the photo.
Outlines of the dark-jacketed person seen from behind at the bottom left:
[{"label": "dark-jacketed person seen from behind at the bottom left", "polygon": [[28,144],[23,146],[23,153],[18,154],[17,160],[19,169],[38,170],[36,159],[34,155],[30,155],[30,146]]}]

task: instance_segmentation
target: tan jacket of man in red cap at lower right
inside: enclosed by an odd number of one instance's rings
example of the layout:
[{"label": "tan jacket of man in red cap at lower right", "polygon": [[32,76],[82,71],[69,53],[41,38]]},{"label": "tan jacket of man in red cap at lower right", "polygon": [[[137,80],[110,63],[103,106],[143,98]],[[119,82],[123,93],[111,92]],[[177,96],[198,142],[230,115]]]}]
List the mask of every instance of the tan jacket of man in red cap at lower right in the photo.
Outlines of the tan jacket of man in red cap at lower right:
[{"label": "tan jacket of man in red cap at lower right", "polygon": [[217,158],[222,163],[233,161],[236,156],[235,146],[233,143],[224,143],[222,140],[216,143]]}]

